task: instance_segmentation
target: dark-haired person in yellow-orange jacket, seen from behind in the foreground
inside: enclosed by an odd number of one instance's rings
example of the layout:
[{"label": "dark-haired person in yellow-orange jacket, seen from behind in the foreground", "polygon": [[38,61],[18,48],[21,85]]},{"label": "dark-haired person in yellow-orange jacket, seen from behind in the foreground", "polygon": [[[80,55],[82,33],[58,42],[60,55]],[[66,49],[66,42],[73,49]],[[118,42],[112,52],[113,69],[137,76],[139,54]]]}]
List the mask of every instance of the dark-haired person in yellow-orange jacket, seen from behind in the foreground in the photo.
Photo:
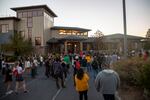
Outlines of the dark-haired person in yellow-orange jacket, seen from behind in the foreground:
[{"label": "dark-haired person in yellow-orange jacket, seen from behind in the foreground", "polygon": [[80,68],[75,75],[75,87],[76,91],[79,93],[79,100],[88,100],[88,88],[89,88],[89,76]]}]

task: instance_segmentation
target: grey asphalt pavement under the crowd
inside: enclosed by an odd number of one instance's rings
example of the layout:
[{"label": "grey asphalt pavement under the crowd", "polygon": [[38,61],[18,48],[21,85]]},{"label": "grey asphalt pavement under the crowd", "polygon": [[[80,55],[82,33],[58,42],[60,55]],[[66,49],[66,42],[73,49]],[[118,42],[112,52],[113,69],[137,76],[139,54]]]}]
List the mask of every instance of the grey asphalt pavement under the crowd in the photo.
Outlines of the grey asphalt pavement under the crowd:
[{"label": "grey asphalt pavement under the crowd", "polygon": [[[39,75],[36,79],[26,79],[27,89],[29,90],[28,93],[23,93],[20,91],[18,95],[15,93],[5,95],[5,88],[1,85],[0,100],[78,100],[78,93],[75,91],[72,75],[66,79],[66,88],[58,90],[54,79],[47,79],[44,76],[44,67],[39,68],[38,73]],[[103,100],[100,94],[95,90],[93,79],[90,79],[88,97],[89,100]]]}]

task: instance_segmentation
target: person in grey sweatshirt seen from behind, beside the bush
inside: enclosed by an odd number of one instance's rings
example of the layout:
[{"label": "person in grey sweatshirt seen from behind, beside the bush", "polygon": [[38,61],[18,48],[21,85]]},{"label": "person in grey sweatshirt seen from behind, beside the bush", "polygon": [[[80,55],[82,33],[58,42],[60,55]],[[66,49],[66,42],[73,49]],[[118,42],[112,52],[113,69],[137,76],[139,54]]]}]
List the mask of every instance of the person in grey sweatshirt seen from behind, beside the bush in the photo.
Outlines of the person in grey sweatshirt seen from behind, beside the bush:
[{"label": "person in grey sweatshirt seen from behind, beside the bush", "polygon": [[104,97],[104,100],[115,100],[115,93],[120,86],[120,78],[117,72],[110,69],[110,64],[105,63],[105,68],[98,73],[95,79],[95,87]]}]

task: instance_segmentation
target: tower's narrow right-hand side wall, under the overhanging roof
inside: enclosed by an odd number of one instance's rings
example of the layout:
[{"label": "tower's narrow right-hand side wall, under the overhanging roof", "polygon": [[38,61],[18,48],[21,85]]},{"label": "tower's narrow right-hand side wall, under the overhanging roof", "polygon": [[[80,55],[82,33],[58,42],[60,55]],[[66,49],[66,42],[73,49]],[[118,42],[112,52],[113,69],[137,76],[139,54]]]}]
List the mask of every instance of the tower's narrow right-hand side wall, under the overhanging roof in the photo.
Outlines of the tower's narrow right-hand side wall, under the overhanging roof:
[{"label": "tower's narrow right-hand side wall, under the overhanging roof", "polygon": [[51,37],[51,31],[50,28],[54,25],[54,18],[49,16],[47,13],[44,12],[44,37],[43,37],[43,43],[46,45],[46,42]]}]

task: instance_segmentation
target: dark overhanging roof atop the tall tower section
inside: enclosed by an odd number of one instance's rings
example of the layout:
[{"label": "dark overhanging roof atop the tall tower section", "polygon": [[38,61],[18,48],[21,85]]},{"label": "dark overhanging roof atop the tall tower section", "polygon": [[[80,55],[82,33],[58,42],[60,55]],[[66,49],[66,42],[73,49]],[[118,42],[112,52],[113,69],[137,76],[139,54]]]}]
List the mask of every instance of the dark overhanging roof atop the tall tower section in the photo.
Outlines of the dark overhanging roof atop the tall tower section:
[{"label": "dark overhanging roof atop the tall tower section", "polygon": [[57,17],[57,15],[47,5],[34,5],[34,6],[25,6],[25,7],[15,7],[15,8],[11,8],[11,9],[14,10],[14,11],[17,11],[17,10],[25,10],[25,9],[36,9],[36,8],[44,8],[50,14],[52,14],[53,17]]}]

